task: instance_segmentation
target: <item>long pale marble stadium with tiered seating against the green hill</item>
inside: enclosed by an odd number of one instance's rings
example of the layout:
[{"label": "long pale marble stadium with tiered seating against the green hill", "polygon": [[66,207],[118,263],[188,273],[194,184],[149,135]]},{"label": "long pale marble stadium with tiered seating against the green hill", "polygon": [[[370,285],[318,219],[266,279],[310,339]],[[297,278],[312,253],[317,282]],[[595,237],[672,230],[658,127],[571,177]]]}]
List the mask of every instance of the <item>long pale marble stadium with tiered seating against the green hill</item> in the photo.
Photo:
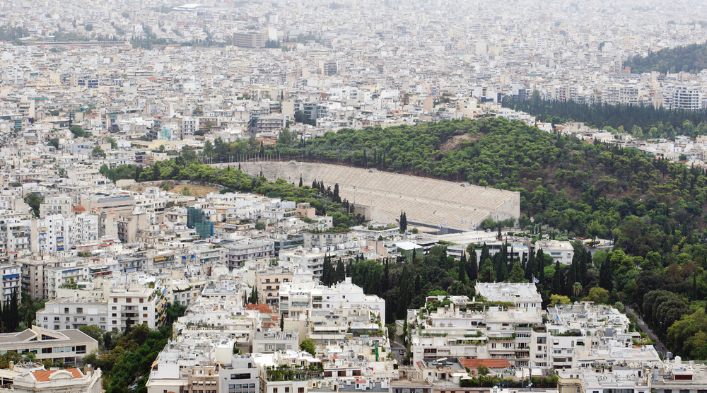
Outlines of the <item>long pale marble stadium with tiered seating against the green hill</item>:
[{"label": "long pale marble stadium with tiered seating against the green hill", "polygon": [[520,216],[518,192],[343,165],[295,161],[240,165],[247,174],[262,172],[268,180],[298,183],[301,175],[303,184],[317,180],[334,189],[338,183],[341,199],[354,203],[356,213],[381,223],[395,223],[405,211],[411,225],[464,231],[486,218],[501,221]]}]

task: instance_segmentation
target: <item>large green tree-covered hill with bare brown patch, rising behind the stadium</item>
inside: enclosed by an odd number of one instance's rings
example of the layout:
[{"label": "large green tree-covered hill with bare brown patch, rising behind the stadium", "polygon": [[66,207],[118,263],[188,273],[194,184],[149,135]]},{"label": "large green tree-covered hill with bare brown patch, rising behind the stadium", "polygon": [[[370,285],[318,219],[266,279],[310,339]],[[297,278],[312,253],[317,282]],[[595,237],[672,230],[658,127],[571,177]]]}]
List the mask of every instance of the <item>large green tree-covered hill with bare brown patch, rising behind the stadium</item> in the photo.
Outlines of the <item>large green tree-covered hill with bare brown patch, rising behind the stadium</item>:
[{"label": "large green tree-covered hill with bare brown patch, rising behind the stadium", "polygon": [[[534,223],[568,235],[613,235],[621,247],[641,256],[649,250],[670,254],[682,236],[696,242],[705,225],[707,177],[699,168],[655,160],[633,148],[585,143],[506,119],[342,129],[313,141],[281,136],[275,148],[216,139],[198,154],[218,162],[243,154],[273,153],[284,159],[375,167],[518,191],[524,213],[521,225],[528,225],[532,216]],[[224,176],[214,168],[185,165],[189,156],[197,153],[187,149],[177,160],[156,163],[136,179],[218,182]],[[104,172],[109,177],[134,175],[124,169],[105,168]],[[111,175],[121,171],[122,175]],[[251,191],[255,184],[243,180],[224,185]],[[641,219],[634,221],[634,217]]]}]

